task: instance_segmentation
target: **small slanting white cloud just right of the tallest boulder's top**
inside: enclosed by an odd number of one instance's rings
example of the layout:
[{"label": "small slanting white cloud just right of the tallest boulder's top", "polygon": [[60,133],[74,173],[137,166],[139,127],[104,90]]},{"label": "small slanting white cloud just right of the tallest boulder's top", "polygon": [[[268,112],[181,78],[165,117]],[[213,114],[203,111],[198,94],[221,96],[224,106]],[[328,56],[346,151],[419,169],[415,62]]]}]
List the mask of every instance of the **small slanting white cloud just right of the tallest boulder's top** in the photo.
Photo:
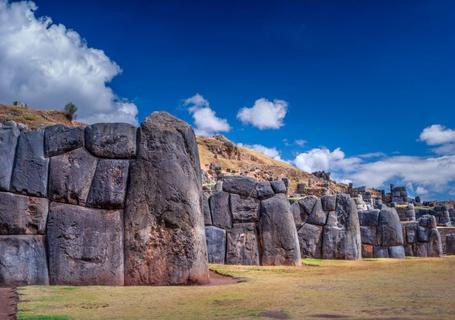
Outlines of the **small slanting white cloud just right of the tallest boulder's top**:
[{"label": "small slanting white cloud just right of the tallest boulder's top", "polygon": [[218,118],[209,102],[199,93],[185,99],[184,105],[193,116],[195,133],[200,136],[212,136],[218,132],[228,132],[231,127],[226,119]]}]

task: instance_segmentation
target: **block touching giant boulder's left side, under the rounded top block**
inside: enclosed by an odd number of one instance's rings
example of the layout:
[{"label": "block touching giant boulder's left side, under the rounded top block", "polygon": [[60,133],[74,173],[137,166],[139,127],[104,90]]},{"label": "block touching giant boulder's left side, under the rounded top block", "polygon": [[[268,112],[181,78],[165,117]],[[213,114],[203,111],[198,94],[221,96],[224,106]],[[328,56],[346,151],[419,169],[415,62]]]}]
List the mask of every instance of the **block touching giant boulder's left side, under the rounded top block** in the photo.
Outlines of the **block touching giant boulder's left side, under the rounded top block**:
[{"label": "block touching giant boulder's left side, under the rounded top block", "polygon": [[128,179],[128,160],[98,160],[87,203],[94,208],[123,208]]}]

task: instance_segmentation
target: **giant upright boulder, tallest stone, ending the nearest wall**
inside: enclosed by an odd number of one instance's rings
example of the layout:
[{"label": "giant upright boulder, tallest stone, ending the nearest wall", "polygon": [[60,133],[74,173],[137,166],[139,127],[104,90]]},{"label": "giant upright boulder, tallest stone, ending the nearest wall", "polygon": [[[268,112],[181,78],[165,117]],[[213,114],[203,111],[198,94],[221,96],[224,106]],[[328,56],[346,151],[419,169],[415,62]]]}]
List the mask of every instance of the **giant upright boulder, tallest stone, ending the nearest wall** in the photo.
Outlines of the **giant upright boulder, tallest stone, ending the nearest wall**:
[{"label": "giant upright boulder, tallest stone, ending the nearest wall", "polygon": [[193,129],[155,112],[138,133],[125,206],[125,284],[207,283],[199,154]]}]

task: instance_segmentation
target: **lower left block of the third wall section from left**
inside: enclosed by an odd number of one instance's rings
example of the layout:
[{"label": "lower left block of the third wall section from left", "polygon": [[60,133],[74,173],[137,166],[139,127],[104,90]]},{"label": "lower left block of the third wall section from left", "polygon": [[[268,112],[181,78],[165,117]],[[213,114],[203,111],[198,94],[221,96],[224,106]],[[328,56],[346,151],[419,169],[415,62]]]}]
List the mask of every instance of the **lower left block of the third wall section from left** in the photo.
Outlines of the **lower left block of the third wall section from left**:
[{"label": "lower left block of the third wall section from left", "polygon": [[305,258],[322,257],[322,227],[305,223],[297,232],[300,255]]}]

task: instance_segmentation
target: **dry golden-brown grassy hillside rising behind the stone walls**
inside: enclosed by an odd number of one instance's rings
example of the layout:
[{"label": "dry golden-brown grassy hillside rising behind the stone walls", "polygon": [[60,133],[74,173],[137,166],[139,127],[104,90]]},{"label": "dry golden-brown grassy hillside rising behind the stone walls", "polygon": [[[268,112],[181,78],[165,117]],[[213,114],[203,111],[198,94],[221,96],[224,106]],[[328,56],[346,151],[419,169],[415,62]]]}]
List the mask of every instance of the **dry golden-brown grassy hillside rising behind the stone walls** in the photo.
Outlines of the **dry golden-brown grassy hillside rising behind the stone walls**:
[{"label": "dry golden-brown grassy hillside rising behind the stone walls", "polygon": [[[38,110],[21,106],[0,104],[0,121],[12,120],[30,128],[54,124],[83,126],[69,121],[65,113],[55,110]],[[347,185],[326,181],[313,174],[304,172],[282,161],[238,146],[224,136],[197,137],[201,167],[205,172],[206,184],[214,184],[222,175],[245,175],[259,180],[289,179],[290,194],[294,194],[297,184],[305,184],[305,193],[322,195],[329,189],[333,192],[346,192]]]}]

